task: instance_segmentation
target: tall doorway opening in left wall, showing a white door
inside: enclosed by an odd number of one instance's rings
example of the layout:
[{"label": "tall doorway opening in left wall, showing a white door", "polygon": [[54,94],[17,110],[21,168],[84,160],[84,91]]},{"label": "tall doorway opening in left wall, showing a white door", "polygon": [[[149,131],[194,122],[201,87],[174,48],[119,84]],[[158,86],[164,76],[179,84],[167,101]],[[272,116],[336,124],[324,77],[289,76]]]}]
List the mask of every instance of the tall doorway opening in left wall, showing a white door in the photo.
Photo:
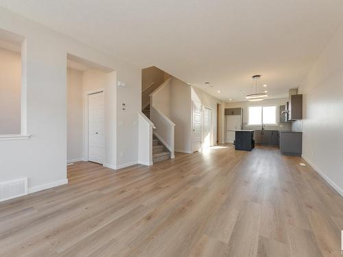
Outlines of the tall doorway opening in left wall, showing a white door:
[{"label": "tall doorway opening in left wall, showing a white door", "polygon": [[106,88],[115,84],[113,70],[67,54],[67,164],[105,163]]}]

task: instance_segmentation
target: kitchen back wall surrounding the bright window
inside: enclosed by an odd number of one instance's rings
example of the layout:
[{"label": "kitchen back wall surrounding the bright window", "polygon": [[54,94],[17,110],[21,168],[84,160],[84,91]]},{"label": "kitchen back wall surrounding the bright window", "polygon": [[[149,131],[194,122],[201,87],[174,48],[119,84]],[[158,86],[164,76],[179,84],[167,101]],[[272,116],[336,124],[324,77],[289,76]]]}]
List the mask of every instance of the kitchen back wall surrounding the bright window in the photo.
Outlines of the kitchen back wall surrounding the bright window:
[{"label": "kitchen back wall surrounding the bright window", "polygon": [[261,126],[248,125],[248,108],[250,106],[276,106],[276,126],[265,125],[267,130],[292,130],[292,123],[279,123],[280,106],[284,106],[287,98],[265,99],[263,101],[237,101],[225,104],[225,108],[243,108],[243,128],[248,130],[261,130]]}]

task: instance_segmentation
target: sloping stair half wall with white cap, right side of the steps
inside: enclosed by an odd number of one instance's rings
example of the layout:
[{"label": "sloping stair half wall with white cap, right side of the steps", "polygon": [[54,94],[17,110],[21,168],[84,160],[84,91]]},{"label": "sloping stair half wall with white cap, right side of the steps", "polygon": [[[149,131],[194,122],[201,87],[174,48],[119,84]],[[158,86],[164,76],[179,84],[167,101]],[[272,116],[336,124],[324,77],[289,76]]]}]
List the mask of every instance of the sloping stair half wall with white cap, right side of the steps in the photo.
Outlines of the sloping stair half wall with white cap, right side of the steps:
[{"label": "sloping stair half wall with white cap, right side of the steps", "polygon": [[155,125],[154,135],[161,140],[163,145],[170,151],[170,158],[175,158],[174,154],[174,127],[175,124],[165,114],[150,106],[150,119]]}]

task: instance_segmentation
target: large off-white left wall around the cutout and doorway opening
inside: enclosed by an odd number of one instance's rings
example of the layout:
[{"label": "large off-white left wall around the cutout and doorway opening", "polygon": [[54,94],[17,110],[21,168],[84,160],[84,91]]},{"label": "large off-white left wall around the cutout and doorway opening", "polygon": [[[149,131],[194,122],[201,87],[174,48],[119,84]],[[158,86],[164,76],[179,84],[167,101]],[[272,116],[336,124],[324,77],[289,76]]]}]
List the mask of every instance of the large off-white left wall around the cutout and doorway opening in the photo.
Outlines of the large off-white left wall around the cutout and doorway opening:
[{"label": "large off-white left wall around the cutout and doorway opening", "polygon": [[[67,182],[67,53],[115,70],[117,79],[126,83],[126,88],[110,88],[110,94],[115,92],[112,101],[115,113],[110,124],[114,127],[110,140],[115,143],[115,150],[106,154],[115,156],[117,168],[137,163],[139,67],[3,8],[0,8],[0,29],[25,37],[22,58],[27,104],[23,113],[27,113],[27,133],[32,135],[28,140],[1,141],[1,182],[28,177],[29,192]],[[121,102],[126,103],[125,111],[120,108]]]}]

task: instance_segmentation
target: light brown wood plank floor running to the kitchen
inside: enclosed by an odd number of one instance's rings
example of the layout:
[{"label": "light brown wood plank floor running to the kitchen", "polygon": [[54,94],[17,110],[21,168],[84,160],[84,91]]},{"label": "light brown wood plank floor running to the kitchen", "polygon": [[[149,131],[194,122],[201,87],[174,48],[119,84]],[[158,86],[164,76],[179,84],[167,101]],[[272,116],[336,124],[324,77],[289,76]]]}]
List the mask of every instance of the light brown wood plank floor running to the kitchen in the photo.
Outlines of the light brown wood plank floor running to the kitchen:
[{"label": "light brown wood plank floor running to the kitchen", "polygon": [[340,256],[343,199],[298,157],[232,146],[0,204],[0,256]]}]

